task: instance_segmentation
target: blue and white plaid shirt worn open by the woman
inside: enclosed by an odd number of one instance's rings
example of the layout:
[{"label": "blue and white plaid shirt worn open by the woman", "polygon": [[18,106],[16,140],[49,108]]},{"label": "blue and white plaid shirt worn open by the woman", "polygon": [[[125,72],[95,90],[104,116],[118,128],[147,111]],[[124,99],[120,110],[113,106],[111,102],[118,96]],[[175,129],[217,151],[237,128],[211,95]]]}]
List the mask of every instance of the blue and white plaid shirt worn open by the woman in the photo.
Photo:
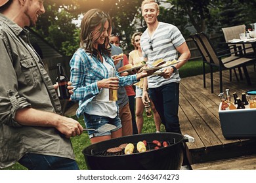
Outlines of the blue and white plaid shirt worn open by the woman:
[{"label": "blue and white plaid shirt worn open by the woman", "polygon": [[[114,68],[114,61],[106,54],[102,55],[106,62]],[[71,76],[70,81],[74,86],[74,93],[71,96],[73,101],[79,101],[77,116],[83,113],[83,108],[100,93],[97,82],[104,78],[108,78],[108,69],[101,63],[99,59],[85,52],[83,48],[79,48],[72,59],[70,60]],[[116,71],[116,76],[119,78],[119,86],[131,85],[137,82],[136,75],[119,76]]]}]

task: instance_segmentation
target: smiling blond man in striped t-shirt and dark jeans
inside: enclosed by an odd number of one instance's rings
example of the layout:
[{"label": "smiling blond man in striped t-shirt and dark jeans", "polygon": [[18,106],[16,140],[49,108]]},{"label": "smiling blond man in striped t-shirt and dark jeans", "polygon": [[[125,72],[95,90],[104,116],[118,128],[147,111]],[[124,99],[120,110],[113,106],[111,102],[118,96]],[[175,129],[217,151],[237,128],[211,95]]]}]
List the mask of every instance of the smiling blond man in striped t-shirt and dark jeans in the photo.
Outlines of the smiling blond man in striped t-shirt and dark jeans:
[{"label": "smiling blond man in striped t-shirt and dark jeans", "polygon": [[148,66],[152,67],[152,63],[158,59],[182,60],[176,65],[162,69],[161,75],[144,78],[142,101],[148,101],[149,94],[160,114],[161,122],[165,125],[165,130],[181,133],[178,117],[181,78],[178,69],[188,61],[190,51],[181,31],[175,25],[158,22],[160,10],[155,1],[144,0],[141,9],[148,28],[140,37],[140,45]]}]

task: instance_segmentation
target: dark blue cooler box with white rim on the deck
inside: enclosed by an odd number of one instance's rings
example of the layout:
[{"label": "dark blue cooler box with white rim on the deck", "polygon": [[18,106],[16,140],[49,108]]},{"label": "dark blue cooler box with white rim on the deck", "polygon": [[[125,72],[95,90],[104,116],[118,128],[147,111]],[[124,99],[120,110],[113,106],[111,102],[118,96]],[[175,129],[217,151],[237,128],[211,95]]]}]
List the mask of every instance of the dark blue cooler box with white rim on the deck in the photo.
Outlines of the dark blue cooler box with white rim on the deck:
[{"label": "dark blue cooler box with white rim on the deck", "polygon": [[221,130],[226,139],[256,137],[256,108],[221,110],[220,104],[219,118],[221,121]]}]

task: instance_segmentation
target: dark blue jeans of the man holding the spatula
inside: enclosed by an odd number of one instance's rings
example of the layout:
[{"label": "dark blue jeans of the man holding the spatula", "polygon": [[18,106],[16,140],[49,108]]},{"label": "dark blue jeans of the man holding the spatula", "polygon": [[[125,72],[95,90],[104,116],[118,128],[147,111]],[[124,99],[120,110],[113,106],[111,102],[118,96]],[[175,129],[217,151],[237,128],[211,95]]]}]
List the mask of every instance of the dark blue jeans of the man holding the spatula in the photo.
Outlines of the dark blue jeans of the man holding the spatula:
[{"label": "dark blue jeans of the man holding the spatula", "polygon": [[25,154],[18,163],[29,170],[79,170],[74,159],[43,154]]}]

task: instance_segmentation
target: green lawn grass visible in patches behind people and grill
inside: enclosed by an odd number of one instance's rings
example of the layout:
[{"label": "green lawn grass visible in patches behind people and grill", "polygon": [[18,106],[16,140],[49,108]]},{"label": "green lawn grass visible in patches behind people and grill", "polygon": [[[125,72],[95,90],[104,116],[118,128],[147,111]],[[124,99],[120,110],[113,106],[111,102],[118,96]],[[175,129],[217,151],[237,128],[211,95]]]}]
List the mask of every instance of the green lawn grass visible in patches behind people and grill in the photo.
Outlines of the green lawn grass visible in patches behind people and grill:
[{"label": "green lawn grass visible in patches behind people and grill", "polygon": [[[188,61],[181,69],[179,69],[179,73],[181,75],[181,78],[188,77],[188,76],[195,76],[195,75],[202,75],[203,69],[202,69],[202,61]],[[216,70],[215,70],[216,71]],[[209,67],[205,68],[205,72],[209,73]],[[142,129],[142,133],[154,133],[156,131],[156,127],[154,124],[154,118],[147,118],[146,114],[144,116],[144,125]],[[72,116],[72,118],[75,118],[80,122],[83,127],[85,127],[85,124],[83,122],[83,118],[77,119],[76,116]],[[161,131],[165,131],[163,125],[161,125]],[[77,161],[79,165],[79,169],[87,169],[85,165],[85,159],[82,154],[83,148],[89,146],[91,144],[89,137],[87,133],[83,133],[82,135],[78,137],[72,137],[71,138],[72,145],[74,148],[75,153],[75,160]],[[7,170],[26,170],[25,167],[20,165],[19,163],[15,163],[11,167],[6,168]]]}]

